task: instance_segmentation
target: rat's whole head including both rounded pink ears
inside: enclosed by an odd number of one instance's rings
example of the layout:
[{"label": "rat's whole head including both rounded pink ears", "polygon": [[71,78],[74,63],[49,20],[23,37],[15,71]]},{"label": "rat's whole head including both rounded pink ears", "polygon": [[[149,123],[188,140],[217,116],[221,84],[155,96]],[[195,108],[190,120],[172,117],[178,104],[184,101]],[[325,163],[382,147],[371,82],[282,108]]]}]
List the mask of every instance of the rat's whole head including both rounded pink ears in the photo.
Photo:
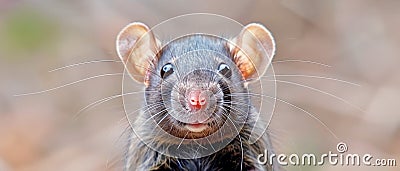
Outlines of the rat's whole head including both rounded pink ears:
[{"label": "rat's whole head including both rounded pink ears", "polygon": [[162,47],[147,26],[133,23],[117,39],[126,69],[146,86],[143,117],[188,139],[216,131],[229,136],[220,130],[224,124],[233,133],[246,122],[251,106],[246,84],[265,72],[274,47],[270,33],[258,24],[230,40],[195,34]]}]

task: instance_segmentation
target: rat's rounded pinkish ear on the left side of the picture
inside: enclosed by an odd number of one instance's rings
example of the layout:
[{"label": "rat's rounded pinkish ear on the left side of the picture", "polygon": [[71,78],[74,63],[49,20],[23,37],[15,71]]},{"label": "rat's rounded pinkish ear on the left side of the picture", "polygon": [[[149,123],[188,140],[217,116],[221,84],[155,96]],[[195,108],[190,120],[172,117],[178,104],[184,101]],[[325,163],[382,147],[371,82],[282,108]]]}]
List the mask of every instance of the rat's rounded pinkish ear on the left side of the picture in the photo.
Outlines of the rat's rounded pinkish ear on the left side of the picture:
[{"label": "rat's rounded pinkish ear on the left side of the picture", "polygon": [[129,75],[148,85],[147,74],[160,48],[151,30],[143,23],[130,23],[119,32],[116,46]]}]

